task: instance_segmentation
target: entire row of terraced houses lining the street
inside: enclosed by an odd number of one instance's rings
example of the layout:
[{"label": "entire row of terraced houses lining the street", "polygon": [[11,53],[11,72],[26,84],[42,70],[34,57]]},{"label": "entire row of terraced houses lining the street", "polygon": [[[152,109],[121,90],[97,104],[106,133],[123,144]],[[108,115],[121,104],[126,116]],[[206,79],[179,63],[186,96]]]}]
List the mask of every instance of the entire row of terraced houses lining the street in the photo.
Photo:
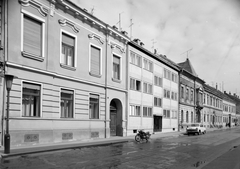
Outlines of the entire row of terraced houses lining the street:
[{"label": "entire row of terraced houses lining the street", "polygon": [[[5,74],[12,146],[170,132],[238,122],[239,98],[69,0],[1,0],[1,145]],[[229,123],[230,122],[230,123]]]}]

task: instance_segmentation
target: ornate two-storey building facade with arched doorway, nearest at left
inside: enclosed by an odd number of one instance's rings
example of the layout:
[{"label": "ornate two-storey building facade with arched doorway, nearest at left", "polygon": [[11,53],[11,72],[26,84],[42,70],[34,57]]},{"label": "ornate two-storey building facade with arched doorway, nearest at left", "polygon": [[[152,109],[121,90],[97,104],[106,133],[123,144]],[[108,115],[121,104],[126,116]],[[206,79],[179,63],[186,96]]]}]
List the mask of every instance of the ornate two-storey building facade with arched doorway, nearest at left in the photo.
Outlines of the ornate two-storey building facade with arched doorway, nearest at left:
[{"label": "ornate two-storey building facade with arched doorway, nearest at left", "polygon": [[125,136],[126,33],[67,0],[4,2],[11,145]]}]

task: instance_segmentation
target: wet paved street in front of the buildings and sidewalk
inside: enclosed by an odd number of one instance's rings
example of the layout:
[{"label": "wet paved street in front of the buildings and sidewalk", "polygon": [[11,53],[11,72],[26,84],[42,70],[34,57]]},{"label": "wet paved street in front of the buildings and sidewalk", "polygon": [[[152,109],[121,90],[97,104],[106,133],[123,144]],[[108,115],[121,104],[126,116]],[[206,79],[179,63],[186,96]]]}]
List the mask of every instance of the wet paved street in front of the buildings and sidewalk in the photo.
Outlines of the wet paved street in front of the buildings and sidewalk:
[{"label": "wet paved street in front of the buildings and sidewalk", "polygon": [[240,144],[240,129],[2,159],[0,168],[201,168]]}]

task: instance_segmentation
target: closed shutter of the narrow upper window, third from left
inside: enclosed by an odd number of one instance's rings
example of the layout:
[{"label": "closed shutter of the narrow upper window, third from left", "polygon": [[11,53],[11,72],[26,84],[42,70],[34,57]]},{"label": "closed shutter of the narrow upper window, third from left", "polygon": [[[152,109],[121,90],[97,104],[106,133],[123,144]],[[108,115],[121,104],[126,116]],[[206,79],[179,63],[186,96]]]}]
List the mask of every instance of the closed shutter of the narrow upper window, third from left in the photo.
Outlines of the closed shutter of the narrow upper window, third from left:
[{"label": "closed shutter of the narrow upper window, third from left", "polygon": [[100,49],[91,46],[91,73],[100,75]]}]

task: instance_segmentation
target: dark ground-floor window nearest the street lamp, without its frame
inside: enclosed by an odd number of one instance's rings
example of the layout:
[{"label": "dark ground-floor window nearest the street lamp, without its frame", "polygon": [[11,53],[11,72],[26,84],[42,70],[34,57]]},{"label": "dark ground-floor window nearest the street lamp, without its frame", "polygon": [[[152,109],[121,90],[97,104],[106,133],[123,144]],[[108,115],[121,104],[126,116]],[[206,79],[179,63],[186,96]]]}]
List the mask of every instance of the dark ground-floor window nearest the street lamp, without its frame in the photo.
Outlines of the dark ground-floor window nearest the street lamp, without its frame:
[{"label": "dark ground-floor window nearest the street lamp, without its frame", "polygon": [[41,86],[23,83],[22,114],[25,117],[40,117]]}]

